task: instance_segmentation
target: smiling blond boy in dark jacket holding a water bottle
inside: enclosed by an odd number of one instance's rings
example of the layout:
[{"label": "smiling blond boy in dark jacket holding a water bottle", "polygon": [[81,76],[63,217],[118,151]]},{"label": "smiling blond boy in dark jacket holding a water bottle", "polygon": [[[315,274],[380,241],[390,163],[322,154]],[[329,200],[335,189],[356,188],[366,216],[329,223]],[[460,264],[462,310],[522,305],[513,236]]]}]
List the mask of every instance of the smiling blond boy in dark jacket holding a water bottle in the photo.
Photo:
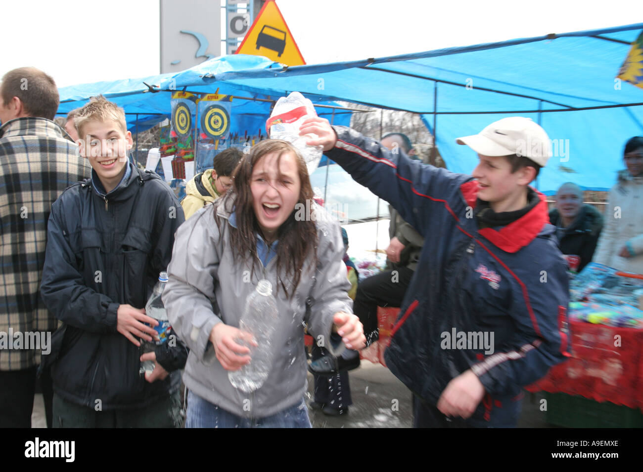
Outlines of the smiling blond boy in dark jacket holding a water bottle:
[{"label": "smiling blond boy in dark jacket holding a water bottle", "polygon": [[[183,209],[158,175],[129,161],[123,109],[93,97],[75,125],[91,179],[51,207],[41,284],[63,322],[47,360],[54,427],[178,427],[187,349],[176,335],[154,352],[139,349],[158,336],[145,302],[172,258]],[[141,376],[145,360],[155,367]]]}]

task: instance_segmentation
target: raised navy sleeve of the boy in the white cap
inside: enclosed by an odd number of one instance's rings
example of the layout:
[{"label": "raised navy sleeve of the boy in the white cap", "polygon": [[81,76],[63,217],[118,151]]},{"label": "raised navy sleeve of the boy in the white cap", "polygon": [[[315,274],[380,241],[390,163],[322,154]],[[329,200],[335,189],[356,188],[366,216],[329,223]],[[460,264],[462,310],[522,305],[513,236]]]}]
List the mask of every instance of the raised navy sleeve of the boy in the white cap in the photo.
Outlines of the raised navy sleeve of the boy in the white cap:
[{"label": "raised navy sleeve of the boy in the white cap", "polygon": [[[393,153],[370,137],[347,127],[333,127],[338,140],[326,155],[350,174],[353,180],[383,198],[421,236],[428,231],[430,202],[449,201],[457,193],[461,174]],[[422,211],[420,211],[422,209]]]}]

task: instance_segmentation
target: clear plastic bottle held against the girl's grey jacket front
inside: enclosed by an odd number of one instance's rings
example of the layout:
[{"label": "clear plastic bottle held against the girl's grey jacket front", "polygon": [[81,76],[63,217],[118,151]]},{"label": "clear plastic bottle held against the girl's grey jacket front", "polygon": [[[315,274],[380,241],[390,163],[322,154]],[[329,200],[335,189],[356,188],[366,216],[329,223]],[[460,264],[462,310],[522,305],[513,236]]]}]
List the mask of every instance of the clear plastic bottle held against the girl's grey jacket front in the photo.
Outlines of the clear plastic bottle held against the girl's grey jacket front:
[{"label": "clear plastic bottle held against the girl's grey jacket front", "polygon": [[246,301],[239,329],[255,337],[257,346],[236,339],[237,344],[250,349],[250,363],[234,372],[228,372],[230,383],[242,392],[250,393],[264,385],[273,364],[274,346],[271,342],[278,319],[273,287],[267,280],[260,280],[257,290]]}]

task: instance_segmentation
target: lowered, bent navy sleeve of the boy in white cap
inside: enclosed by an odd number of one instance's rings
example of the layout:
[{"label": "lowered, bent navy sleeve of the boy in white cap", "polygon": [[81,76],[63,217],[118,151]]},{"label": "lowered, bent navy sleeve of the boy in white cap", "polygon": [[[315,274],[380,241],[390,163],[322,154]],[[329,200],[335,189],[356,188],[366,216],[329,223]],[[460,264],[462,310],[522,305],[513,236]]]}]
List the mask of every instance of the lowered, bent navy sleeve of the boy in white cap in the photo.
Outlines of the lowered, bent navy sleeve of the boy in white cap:
[{"label": "lowered, bent navy sleeve of the boy in white cap", "polygon": [[539,380],[550,367],[570,355],[566,263],[562,258],[555,259],[548,266],[516,273],[529,301],[525,301],[522,287],[516,283],[510,306],[516,331],[495,353],[471,366],[491,396],[507,394]]}]

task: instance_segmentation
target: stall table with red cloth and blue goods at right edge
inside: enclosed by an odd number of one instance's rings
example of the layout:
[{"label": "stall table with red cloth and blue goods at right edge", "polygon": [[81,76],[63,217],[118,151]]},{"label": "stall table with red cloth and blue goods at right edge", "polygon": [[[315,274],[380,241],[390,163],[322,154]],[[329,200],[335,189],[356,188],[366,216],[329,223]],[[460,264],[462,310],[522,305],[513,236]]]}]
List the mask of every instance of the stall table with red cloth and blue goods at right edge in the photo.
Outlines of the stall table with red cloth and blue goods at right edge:
[{"label": "stall table with red cloth and blue goods at right edge", "polygon": [[528,387],[547,392],[550,423],[643,426],[642,303],[643,275],[590,263],[570,281],[572,356]]}]

